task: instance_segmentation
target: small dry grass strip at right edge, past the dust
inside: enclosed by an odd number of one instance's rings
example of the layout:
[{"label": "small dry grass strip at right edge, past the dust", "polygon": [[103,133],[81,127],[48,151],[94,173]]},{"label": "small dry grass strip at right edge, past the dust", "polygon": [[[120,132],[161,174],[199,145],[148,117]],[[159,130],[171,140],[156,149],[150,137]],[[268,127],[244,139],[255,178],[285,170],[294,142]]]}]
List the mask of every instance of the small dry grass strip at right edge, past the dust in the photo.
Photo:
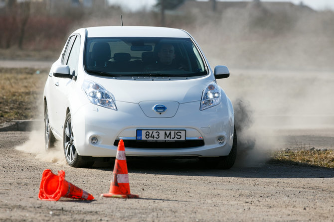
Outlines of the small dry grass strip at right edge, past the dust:
[{"label": "small dry grass strip at right edge, past the dust", "polygon": [[334,168],[334,150],[287,150],[276,151],[271,163]]}]

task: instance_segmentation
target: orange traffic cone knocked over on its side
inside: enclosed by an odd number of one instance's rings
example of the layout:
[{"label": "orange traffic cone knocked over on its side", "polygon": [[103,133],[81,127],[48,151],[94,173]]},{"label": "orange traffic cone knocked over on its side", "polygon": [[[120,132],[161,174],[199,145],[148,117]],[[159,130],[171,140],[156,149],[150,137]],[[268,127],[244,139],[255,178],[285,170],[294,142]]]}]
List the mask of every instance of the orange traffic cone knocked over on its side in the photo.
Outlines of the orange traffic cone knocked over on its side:
[{"label": "orange traffic cone knocked over on its side", "polygon": [[65,172],[63,170],[58,171],[58,175],[53,174],[49,169],[44,170],[38,198],[45,201],[58,201],[60,197],[81,200],[94,199],[91,194],[67,182],[64,178]]}]

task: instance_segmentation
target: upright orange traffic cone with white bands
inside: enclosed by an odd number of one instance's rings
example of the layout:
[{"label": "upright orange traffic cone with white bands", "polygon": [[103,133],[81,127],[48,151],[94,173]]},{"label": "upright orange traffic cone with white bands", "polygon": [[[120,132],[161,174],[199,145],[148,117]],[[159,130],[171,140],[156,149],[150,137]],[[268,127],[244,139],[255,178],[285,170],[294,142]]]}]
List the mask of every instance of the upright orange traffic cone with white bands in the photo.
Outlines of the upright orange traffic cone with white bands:
[{"label": "upright orange traffic cone with white bands", "polygon": [[101,197],[139,198],[138,195],[130,193],[128,166],[123,139],[118,143],[113,179],[111,181],[109,194],[101,194]]}]

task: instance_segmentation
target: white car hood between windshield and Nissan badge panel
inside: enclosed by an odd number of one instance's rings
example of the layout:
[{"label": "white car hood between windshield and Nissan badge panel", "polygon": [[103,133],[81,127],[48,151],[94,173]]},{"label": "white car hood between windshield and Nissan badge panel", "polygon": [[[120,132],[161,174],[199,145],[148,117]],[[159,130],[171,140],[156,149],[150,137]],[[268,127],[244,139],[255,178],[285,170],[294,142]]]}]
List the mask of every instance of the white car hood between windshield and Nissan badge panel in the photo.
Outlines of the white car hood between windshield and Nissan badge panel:
[{"label": "white car hood between windshield and Nissan badge panel", "polygon": [[209,76],[187,80],[118,80],[95,77],[92,81],[113,94],[115,101],[175,101],[179,104],[200,101],[203,90],[213,81]]}]

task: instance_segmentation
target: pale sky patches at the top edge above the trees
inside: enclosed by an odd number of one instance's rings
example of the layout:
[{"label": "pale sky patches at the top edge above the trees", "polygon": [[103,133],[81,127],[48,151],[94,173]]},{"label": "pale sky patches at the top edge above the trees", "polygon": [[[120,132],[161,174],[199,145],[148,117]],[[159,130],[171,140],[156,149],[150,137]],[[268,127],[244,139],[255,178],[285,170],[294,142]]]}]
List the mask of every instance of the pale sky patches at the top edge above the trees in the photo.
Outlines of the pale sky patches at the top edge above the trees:
[{"label": "pale sky patches at the top edge above the trees", "polygon": [[[228,1],[240,1],[240,0],[228,0]],[[248,0],[250,1],[250,0]],[[315,10],[334,10],[334,0],[263,0],[263,1],[287,1],[294,4],[299,4],[301,1],[307,6],[312,7]],[[143,8],[150,9],[156,0],[109,0],[111,4],[118,4],[123,6],[127,10],[140,10]]]}]

